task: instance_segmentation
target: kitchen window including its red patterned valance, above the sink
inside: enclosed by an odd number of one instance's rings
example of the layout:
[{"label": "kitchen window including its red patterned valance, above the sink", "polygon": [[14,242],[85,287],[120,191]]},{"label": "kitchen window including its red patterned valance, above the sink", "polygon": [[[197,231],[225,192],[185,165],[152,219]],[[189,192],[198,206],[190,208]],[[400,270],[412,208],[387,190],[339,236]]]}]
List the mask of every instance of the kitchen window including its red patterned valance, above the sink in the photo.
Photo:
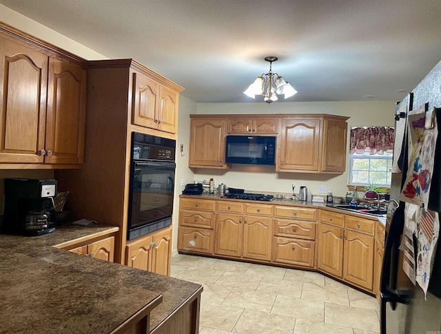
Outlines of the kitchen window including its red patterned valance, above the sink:
[{"label": "kitchen window including its red patterned valance, above the sink", "polygon": [[393,127],[351,127],[349,184],[390,187]]}]

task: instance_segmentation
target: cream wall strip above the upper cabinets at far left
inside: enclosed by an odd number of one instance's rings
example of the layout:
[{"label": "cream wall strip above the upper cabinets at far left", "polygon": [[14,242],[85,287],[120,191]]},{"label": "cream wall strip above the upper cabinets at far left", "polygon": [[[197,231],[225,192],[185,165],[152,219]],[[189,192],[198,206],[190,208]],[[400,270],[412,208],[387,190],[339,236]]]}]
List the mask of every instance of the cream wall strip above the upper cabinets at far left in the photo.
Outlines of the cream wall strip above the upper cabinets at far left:
[{"label": "cream wall strip above the upper cabinets at far left", "polygon": [[[48,3],[49,4],[49,3]],[[45,25],[38,23],[28,17],[25,17],[18,12],[14,12],[10,8],[0,4],[0,21],[11,25],[14,28],[27,32],[28,34],[35,36],[43,41],[57,45],[66,51],[72,52],[77,56],[81,56],[84,59],[96,60],[107,59],[106,56],[100,54],[90,48],[81,45],[80,43],[62,35],[58,32],[49,29]]]}]

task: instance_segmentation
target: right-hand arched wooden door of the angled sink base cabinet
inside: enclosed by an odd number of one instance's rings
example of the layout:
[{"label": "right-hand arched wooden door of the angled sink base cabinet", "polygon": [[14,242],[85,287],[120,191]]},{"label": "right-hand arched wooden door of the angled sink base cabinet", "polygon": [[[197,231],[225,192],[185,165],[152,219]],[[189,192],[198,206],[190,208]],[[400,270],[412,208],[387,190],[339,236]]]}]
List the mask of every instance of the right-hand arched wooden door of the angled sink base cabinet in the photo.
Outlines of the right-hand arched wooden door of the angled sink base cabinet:
[{"label": "right-hand arched wooden door of the angled sink base cabinet", "polygon": [[345,231],[343,279],[369,291],[373,284],[373,237]]}]

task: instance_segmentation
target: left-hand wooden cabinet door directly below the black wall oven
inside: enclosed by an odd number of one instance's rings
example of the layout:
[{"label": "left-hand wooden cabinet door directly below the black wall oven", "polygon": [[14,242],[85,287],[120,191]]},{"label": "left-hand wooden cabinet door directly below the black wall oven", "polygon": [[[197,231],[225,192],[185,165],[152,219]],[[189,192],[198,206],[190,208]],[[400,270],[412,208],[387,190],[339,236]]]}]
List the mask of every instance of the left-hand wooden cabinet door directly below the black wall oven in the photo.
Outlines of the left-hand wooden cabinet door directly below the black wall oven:
[{"label": "left-hand wooden cabinet door directly below the black wall oven", "polygon": [[153,236],[145,236],[125,247],[125,264],[129,267],[151,271]]}]

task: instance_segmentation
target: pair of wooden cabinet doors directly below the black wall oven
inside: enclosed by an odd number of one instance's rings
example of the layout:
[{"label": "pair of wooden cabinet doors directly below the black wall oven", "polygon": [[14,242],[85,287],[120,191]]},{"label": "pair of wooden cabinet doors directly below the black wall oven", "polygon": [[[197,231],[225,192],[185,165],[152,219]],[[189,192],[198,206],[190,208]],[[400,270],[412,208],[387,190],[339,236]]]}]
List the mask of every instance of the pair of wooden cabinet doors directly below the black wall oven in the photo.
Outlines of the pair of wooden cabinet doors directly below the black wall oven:
[{"label": "pair of wooden cabinet doors directly below the black wall oven", "polygon": [[125,264],[127,266],[161,275],[170,275],[171,258],[171,227],[127,242],[125,247]]}]

